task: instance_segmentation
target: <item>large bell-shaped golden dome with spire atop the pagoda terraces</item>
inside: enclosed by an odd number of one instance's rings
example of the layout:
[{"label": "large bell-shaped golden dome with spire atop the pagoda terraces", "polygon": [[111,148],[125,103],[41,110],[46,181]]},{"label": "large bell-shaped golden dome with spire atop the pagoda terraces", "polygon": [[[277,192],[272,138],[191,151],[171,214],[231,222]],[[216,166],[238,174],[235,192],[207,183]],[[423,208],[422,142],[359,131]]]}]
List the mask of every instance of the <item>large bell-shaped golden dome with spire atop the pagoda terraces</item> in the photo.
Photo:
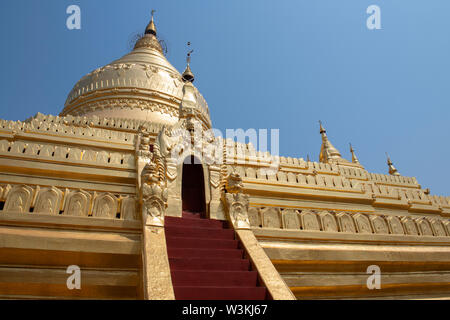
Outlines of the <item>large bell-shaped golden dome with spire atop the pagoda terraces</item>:
[{"label": "large bell-shaped golden dome with spire atop the pagoda terraces", "polygon": [[[208,105],[195,88],[198,113],[211,127]],[[167,61],[152,20],[134,49],[84,76],[67,97],[61,116],[98,116],[174,124],[183,97],[182,75]]]}]

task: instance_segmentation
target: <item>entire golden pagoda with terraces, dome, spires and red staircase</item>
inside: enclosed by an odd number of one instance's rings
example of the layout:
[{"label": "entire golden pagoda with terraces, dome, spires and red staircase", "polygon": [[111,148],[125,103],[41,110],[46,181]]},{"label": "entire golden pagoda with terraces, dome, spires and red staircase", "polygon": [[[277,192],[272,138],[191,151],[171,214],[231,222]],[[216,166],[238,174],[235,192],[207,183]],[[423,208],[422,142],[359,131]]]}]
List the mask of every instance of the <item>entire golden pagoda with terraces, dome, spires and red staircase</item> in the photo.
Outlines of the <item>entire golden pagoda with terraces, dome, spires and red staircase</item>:
[{"label": "entire golden pagoda with terraces, dome, spires and red staircase", "polygon": [[319,162],[267,170],[210,134],[191,53],[180,74],[152,12],[59,115],[0,120],[1,298],[450,298],[450,197],[344,159],[322,123]]}]

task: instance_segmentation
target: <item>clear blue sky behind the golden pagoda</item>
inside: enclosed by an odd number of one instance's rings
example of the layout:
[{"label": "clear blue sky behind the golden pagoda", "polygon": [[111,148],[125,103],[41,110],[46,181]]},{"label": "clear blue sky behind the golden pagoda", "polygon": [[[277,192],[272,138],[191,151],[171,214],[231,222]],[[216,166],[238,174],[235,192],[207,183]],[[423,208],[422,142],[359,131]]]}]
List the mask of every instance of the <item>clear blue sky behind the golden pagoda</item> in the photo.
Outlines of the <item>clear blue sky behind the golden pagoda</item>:
[{"label": "clear blue sky behind the golden pagoda", "polygon": [[[82,29],[66,28],[81,7]],[[381,30],[366,9],[381,8]],[[350,158],[450,195],[450,1],[2,0],[0,118],[58,114],[86,73],[130,49],[157,10],[168,59],[195,49],[196,86],[213,126],[279,128],[280,153],[317,160],[321,119]]]}]

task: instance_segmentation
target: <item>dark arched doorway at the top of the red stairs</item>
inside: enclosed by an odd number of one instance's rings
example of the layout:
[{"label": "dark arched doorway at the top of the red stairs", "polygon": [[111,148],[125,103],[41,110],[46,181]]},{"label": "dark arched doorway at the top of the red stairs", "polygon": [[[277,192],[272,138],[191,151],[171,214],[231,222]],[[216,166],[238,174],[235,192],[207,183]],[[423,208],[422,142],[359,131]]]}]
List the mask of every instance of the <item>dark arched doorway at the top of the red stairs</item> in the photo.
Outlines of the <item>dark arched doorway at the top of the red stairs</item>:
[{"label": "dark arched doorway at the top of the red stairs", "polygon": [[[205,214],[205,180],[203,166],[194,162],[194,157],[183,163],[183,181],[181,197],[183,211]],[[190,161],[189,161],[190,160]],[[188,163],[189,162],[189,163]],[[198,161],[197,161],[198,162]]]}]

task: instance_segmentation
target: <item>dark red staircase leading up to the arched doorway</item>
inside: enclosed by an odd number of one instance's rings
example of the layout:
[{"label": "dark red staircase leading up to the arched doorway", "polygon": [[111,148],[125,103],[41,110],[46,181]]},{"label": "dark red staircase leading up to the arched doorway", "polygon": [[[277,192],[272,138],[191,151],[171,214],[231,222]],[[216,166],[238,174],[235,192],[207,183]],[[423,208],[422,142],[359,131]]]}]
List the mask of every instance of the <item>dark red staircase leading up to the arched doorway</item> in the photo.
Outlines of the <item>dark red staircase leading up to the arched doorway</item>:
[{"label": "dark red staircase leading up to the arched doorway", "polygon": [[264,300],[266,288],[223,222],[183,212],[165,217],[167,252],[177,300]]}]

